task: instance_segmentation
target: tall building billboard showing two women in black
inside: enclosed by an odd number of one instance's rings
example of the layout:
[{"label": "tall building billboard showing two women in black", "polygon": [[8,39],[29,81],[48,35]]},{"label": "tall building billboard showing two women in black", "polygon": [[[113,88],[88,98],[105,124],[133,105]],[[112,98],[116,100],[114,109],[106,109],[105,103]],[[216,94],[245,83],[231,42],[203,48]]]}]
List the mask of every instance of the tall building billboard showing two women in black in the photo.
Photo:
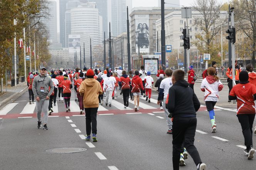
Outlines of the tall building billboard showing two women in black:
[{"label": "tall building billboard showing two women in black", "polygon": [[149,53],[149,15],[135,15],[136,52]]}]

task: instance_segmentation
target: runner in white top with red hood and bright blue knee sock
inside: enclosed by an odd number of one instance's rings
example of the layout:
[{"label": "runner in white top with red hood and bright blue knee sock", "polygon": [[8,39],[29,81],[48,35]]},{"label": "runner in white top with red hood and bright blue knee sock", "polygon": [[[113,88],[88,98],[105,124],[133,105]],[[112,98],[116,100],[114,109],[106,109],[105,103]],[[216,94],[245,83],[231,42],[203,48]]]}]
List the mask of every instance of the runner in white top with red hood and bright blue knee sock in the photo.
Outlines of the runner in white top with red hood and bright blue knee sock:
[{"label": "runner in white top with red hood and bright blue knee sock", "polygon": [[201,83],[201,90],[204,93],[204,101],[209,112],[209,117],[212,123],[212,133],[216,132],[216,122],[215,122],[215,113],[214,106],[217,101],[219,101],[219,92],[222,90],[223,85],[219,78],[215,75],[215,68],[207,68],[207,77]]}]

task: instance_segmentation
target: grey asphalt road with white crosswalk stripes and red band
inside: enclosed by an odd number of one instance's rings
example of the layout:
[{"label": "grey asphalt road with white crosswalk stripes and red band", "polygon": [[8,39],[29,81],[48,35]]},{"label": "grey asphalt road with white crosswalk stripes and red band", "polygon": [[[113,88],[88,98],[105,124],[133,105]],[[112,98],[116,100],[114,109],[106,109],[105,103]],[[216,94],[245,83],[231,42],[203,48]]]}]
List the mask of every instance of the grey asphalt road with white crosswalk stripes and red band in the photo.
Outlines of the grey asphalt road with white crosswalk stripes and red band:
[{"label": "grey asphalt road with white crosswalk stripes and red band", "polygon": [[[254,170],[255,160],[243,153],[244,138],[234,105],[216,105],[217,132],[211,133],[208,112],[202,101],[199,83],[195,91],[202,104],[197,112],[195,146],[209,170]],[[226,86],[225,88],[226,89]],[[227,90],[227,89],[226,89]],[[225,91],[223,96],[225,96]],[[120,95],[119,95],[120,96]],[[223,97],[224,98],[224,97]],[[172,169],[172,135],[166,134],[165,115],[153,92],[151,103],[141,99],[142,107],[134,112],[133,101],[123,109],[118,97],[112,107],[101,106],[97,116],[98,142],[85,141],[85,116],[79,115],[78,103],[72,99],[71,112],[57,102],[49,117],[49,130],[37,129],[35,104],[28,104],[28,92],[0,110],[1,170],[170,170]],[[226,99],[225,99],[226,101]],[[185,106],[184,106],[185,107]],[[256,135],[253,135],[253,143]],[[79,153],[49,153],[51,148],[77,147]],[[256,158],[254,158],[256,159]],[[195,170],[189,156],[181,170]]]}]

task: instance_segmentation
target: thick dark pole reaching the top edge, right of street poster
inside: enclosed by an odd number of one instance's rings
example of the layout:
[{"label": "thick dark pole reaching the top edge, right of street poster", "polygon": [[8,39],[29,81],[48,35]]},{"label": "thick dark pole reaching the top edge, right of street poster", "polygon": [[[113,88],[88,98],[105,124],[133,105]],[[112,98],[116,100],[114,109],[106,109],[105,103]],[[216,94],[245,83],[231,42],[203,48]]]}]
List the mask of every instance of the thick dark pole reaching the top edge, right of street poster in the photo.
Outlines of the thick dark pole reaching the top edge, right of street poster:
[{"label": "thick dark pole reaching the top edge, right of street poster", "polygon": [[165,70],[165,1],[161,0],[161,60]]}]

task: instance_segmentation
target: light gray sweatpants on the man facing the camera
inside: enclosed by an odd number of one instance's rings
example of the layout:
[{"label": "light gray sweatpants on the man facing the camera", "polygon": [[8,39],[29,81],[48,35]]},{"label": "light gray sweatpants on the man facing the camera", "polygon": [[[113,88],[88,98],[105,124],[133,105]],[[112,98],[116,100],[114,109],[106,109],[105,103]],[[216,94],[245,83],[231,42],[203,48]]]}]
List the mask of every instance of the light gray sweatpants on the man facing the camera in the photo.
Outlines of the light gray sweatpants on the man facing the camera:
[{"label": "light gray sweatpants on the man facing the camera", "polygon": [[37,119],[41,120],[41,112],[44,113],[44,124],[47,124],[48,121],[48,106],[49,106],[49,100],[46,100],[45,98],[40,99],[39,102],[35,102],[35,106],[37,108]]}]

